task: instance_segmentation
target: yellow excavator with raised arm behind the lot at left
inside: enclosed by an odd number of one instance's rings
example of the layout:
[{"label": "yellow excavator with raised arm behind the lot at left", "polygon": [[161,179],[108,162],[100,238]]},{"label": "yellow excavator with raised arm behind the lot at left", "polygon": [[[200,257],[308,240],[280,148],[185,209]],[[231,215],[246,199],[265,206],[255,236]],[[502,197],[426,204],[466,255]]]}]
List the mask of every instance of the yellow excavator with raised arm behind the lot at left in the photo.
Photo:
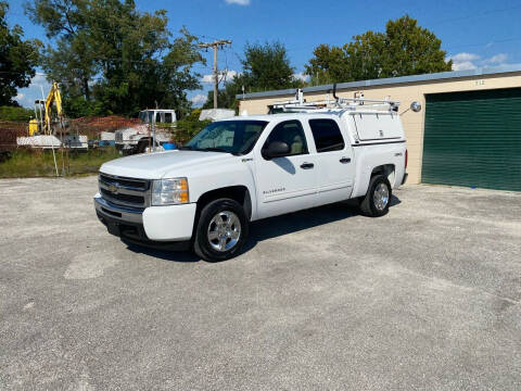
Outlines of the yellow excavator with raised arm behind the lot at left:
[{"label": "yellow excavator with raised arm behind the lot at left", "polygon": [[64,113],[62,108],[62,94],[58,83],[53,81],[51,90],[47,94],[46,100],[35,101],[36,117],[29,121],[29,136],[35,135],[53,135],[56,134],[52,128],[52,103],[56,105],[58,123],[61,127],[64,126]]}]

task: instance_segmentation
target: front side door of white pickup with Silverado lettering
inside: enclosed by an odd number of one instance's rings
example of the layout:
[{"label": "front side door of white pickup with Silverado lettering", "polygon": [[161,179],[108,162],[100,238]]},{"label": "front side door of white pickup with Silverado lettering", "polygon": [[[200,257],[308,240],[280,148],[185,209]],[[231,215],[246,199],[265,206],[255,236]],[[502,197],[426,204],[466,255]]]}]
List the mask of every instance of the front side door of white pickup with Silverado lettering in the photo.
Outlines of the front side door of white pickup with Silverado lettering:
[{"label": "front side door of white pickup with Silverado lettering", "polygon": [[[313,146],[309,140],[301,122],[292,119],[276,125],[259,143],[255,156],[259,218],[315,206],[317,162],[316,154],[309,153],[309,146]],[[263,151],[272,141],[285,142],[290,147],[289,154],[267,159]]]}]

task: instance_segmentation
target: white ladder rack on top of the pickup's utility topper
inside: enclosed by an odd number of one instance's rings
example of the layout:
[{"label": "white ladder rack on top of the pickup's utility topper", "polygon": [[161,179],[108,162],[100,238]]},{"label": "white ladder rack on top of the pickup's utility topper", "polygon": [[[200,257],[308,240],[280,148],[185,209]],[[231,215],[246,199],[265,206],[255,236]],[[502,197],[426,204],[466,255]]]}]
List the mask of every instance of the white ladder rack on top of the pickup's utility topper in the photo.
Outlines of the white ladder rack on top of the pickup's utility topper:
[{"label": "white ladder rack on top of the pickup's utility topper", "polygon": [[389,99],[378,100],[378,99],[366,99],[361,93],[361,97],[355,98],[340,98],[336,97],[336,85],[333,86],[333,99],[330,98],[328,93],[327,99],[322,101],[314,101],[314,102],[306,102],[304,99],[304,92],[302,89],[296,90],[295,99],[283,101],[283,102],[275,102],[274,104],[269,105],[270,114],[279,113],[279,112],[315,112],[315,111],[356,111],[359,112],[361,110],[374,110],[374,111],[389,111],[389,112],[397,112],[399,102],[391,101]]}]

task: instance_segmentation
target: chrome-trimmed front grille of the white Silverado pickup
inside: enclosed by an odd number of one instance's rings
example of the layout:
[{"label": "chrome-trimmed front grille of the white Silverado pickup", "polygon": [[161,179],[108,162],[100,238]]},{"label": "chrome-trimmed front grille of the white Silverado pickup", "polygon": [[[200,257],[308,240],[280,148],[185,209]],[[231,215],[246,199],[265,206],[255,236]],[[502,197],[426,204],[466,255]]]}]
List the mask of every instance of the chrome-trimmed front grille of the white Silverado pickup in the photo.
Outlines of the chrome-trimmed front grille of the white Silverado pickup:
[{"label": "chrome-trimmed front grille of the white Silverado pickup", "polygon": [[103,199],[113,204],[140,210],[150,205],[151,181],[148,179],[100,173],[98,182]]}]

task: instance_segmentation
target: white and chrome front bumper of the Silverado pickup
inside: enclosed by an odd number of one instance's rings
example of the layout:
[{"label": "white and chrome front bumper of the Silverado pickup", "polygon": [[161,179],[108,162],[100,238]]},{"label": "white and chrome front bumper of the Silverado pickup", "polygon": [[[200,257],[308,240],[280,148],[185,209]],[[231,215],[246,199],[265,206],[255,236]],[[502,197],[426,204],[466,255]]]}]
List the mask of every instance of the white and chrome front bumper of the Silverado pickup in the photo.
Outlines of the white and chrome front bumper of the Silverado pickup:
[{"label": "white and chrome front bumper of the Silverado pickup", "polygon": [[94,197],[98,218],[123,241],[165,250],[187,250],[192,237],[195,204],[127,209]]}]

